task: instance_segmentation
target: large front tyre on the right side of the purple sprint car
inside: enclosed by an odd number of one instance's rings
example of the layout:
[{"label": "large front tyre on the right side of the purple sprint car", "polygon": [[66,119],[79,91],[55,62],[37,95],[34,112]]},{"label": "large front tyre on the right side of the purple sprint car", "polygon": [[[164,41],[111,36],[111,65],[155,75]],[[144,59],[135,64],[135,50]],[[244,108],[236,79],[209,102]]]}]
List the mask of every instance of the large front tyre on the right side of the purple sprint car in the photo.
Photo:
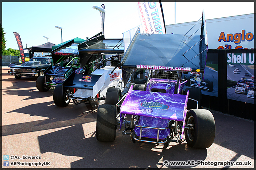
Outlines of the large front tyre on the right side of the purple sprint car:
[{"label": "large front tyre on the right side of the purple sprint car", "polygon": [[186,122],[192,129],[184,131],[188,146],[208,148],[215,138],[215,121],[212,113],[206,109],[192,109],[187,113]]}]

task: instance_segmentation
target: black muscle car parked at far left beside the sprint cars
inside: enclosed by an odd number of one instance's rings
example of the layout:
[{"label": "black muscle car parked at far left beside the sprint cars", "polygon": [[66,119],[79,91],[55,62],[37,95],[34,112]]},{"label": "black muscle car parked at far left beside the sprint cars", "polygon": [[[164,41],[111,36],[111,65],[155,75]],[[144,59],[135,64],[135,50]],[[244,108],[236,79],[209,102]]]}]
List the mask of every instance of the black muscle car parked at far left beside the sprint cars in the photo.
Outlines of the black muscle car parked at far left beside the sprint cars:
[{"label": "black muscle car parked at far left beside the sprint cars", "polygon": [[33,57],[28,62],[11,66],[10,75],[14,75],[16,79],[20,79],[22,76],[38,77],[44,75],[44,70],[46,70],[51,63],[52,57]]}]

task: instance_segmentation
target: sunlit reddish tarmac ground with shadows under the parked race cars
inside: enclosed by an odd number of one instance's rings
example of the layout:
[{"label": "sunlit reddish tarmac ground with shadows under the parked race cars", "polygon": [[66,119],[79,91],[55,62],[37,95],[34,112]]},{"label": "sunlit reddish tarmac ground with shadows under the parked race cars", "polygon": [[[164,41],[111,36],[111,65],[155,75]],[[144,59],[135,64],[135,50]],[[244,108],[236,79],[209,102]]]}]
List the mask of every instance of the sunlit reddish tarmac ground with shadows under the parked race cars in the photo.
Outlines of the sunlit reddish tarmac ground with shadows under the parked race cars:
[{"label": "sunlit reddish tarmac ground with shadows under the parked race cars", "polygon": [[98,142],[97,109],[55,106],[53,90],[40,92],[36,78],[17,80],[8,69],[2,68],[2,168],[254,168],[254,121],[211,111],[216,135],[207,149],[188,147],[185,136],[167,148],[133,143],[119,128],[114,142]]}]

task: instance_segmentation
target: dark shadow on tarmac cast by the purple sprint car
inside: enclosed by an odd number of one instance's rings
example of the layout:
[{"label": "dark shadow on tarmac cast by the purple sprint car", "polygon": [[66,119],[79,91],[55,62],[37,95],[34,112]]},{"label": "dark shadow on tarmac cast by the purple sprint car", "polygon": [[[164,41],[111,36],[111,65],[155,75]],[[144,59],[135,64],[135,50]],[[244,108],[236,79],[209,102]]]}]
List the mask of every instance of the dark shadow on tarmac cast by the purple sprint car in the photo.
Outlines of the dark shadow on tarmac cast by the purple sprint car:
[{"label": "dark shadow on tarmac cast by the purple sprint car", "polygon": [[[207,149],[193,149],[186,143],[164,145],[133,143],[129,136],[117,131],[114,142],[99,142],[96,132],[85,136],[82,125],[75,125],[38,136],[41,153],[54,152],[82,157],[71,163],[71,168],[159,168],[159,159],[172,161],[204,160]],[[190,166],[192,167],[192,166]],[[179,168],[181,168],[179,166]],[[184,168],[184,167],[183,167]]]}]

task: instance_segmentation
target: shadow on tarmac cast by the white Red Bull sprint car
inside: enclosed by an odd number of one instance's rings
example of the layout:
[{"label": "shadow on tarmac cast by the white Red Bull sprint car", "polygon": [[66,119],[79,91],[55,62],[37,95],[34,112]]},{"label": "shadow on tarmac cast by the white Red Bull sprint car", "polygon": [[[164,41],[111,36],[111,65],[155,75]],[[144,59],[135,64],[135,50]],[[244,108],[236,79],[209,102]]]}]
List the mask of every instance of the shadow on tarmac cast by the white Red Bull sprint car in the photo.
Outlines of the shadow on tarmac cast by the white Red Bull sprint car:
[{"label": "shadow on tarmac cast by the white Red Bull sprint car", "polygon": [[89,104],[79,104],[78,106],[74,105],[75,104],[69,104],[67,107],[58,107],[55,106],[53,102],[45,102],[31,104],[29,106],[7,112],[18,112],[30,114],[30,116],[36,115],[48,117],[48,119],[2,126],[2,136],[55,129],[96,121],[97,110],[93,110]]}]

